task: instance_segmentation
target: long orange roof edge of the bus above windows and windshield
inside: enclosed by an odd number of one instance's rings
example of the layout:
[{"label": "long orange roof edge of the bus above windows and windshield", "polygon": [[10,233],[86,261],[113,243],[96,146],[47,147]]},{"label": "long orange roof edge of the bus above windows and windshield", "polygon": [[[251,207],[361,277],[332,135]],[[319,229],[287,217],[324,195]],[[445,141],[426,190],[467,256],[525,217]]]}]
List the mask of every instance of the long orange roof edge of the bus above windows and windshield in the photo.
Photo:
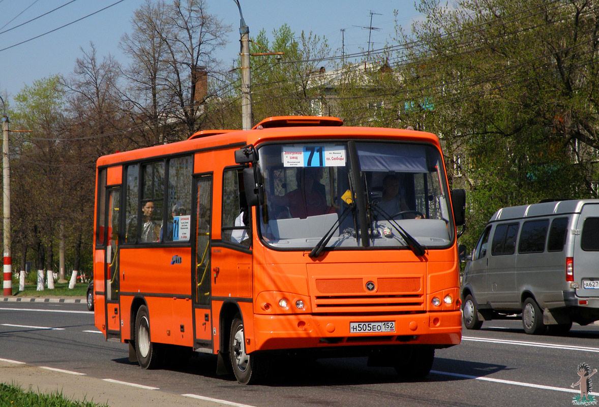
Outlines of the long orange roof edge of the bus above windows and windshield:
[{"label": "long orange roof edge of the bus above windows and windshield", "polygon": [[[292,116],[288,116],[292,117]],[[118,152],[98,158],[97,165],[113,165],[120,162],[137,161],[157,156],[193,152],[202,149],[240,148],[247,144],[257,146],[265,141],[292,141],[297,139],[332,140],[335,138],[395,139],[432,143],[439,147],[438,137],[432,133],[406,129],[346,126],[293,126],[264,129],[211,130],[210,134],[198,134],[184,141],[160,144],[143,149]],[[195,135],[194,134],[194,135]]]}]

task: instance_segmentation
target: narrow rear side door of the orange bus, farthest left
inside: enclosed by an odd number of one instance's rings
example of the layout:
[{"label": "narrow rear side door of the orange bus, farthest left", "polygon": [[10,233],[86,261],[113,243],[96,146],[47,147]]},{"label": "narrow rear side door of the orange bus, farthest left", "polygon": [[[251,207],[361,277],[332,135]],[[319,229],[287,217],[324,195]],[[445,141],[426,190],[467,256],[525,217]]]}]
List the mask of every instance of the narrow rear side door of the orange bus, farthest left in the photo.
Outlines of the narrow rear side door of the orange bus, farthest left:
[{"label": "narrow rear side door of the orange bus, farthest left", "polygon": [[119,201],[120,188],[108,189],[106,213],[107,236],[105,279],[106,279],[106,328],[107,337],[120,338],[119,309]]}]

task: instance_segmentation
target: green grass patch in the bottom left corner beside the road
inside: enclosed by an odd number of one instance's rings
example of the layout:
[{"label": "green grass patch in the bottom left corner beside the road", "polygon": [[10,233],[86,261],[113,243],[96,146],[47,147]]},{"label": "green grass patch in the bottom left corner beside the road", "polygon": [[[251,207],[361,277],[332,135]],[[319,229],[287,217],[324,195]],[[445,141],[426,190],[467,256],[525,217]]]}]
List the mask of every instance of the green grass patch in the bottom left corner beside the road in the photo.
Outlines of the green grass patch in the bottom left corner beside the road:
[{"label": "green grass patch in the bottom left corner beside the road", "polygon": [[17,385],[0,383],[0,407],[108,407],[87,401],[69,400],[62,393],[41,394],[23,390]]}]

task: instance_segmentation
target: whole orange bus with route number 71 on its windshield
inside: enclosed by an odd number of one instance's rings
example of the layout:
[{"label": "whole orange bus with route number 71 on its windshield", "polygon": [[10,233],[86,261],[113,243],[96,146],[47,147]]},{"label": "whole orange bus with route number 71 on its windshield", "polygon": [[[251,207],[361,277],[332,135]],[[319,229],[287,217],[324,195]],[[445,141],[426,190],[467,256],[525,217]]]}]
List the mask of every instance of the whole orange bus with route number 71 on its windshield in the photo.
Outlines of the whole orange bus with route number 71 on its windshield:
[{"label": "whole orange bus with route number 71 on its windshield", "polygon": [[95,325],[146,369],[193,350],[242,384],[304,352],[425,376],[461,340],[464,206],[434,134],[336,117],[102,156]]}]

